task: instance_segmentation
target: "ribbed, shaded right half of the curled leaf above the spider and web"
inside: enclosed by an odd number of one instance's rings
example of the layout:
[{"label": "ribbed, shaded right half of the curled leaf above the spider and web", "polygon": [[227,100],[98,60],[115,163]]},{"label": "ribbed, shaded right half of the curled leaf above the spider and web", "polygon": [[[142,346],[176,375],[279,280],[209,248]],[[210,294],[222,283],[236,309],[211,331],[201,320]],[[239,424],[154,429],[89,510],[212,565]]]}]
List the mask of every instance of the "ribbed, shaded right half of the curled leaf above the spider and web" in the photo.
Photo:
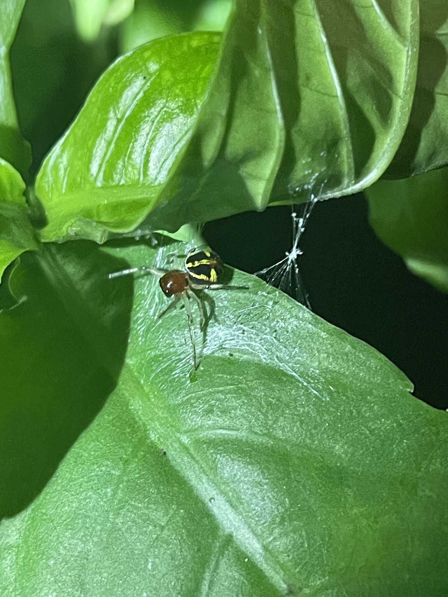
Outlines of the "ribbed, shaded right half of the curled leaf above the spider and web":
[{"label": "ribbed, shaded right half of the curled leaf above the spider and web", "polygon": [[403,137],[417,51],[415,0],[367,10],[237,0],[196,134],[164,189],[161,227],[187,208],[210,220],[371,184]]}]

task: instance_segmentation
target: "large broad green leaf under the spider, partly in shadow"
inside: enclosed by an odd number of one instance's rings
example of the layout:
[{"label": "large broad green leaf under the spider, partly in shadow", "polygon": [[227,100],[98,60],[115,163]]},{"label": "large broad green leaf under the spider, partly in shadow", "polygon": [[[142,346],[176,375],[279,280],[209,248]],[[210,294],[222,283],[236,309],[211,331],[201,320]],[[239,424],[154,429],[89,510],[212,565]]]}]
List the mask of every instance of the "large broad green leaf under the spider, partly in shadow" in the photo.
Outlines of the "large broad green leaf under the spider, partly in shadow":
[{"label": "large broad green leaf under the spider, partly in shadow", "polygon": [[0,527],[1,594],[444,595],[446,413],[238,272],[249,290],[209,293],[191,375],[185,312],[157,319],[157,279],[106,278],[182,247],[152,241],[46,245],[14,276],[5,512],[40,493]]}]

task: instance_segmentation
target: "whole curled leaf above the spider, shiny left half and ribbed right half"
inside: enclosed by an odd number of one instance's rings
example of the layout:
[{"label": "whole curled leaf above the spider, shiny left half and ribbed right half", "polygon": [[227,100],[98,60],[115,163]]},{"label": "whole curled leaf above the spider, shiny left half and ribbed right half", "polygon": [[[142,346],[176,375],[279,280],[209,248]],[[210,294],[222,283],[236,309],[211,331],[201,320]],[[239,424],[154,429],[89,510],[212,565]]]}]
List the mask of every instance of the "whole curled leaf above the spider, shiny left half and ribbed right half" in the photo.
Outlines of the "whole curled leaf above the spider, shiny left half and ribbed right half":
[{"label": "whole curled leaf above the spider, shiny left half and ribbed right half", "polygon": [[412,103],[417,2],[302,4],[237,2],[208,94],[211,34],[156,40],[115,63],[39,173],[44,239],[104,239],[145,218],[173,232],[381,176]]}]

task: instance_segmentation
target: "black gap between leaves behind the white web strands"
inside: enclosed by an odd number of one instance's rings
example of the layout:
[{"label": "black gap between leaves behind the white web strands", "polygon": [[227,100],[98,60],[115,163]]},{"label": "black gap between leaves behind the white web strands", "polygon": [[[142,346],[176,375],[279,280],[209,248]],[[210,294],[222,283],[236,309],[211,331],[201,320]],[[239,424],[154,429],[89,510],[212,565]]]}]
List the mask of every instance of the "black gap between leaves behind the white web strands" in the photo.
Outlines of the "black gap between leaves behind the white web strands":
[{"label": "black gap between leaves behind the white web strands", "polygon": [[[315,205],[298,260],[312,310],[387,356],[413,382],[415,396],[448,408],[448,296],[409,272],[367,214],[362,193]],[[247,272],[283,259],[291,234],[289,207],[205,227],[222,258]]]}]

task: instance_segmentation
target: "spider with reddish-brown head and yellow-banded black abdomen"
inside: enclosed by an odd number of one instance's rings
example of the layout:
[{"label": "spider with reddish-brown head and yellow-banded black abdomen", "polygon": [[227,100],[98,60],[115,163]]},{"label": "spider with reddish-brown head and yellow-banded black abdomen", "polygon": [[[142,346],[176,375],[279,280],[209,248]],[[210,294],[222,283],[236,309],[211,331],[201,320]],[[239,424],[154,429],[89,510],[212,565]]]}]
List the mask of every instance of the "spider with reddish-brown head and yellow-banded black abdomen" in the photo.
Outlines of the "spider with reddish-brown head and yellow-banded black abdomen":
[{"label": "spider with reddish-brown head and yellow-banded black abdomen", "polygon": [[[184,256],[178,256],[184,257]],[[208,248],[194,248],[185,257],[185,270],[171,269],[165,270],[158,267],[142,265],[140,267],[131,267],[121,272],[109,273],[110,278],[126,276],[135,272],[148,272],[159,276],[159,286],[167,297],[174,296],[174,299],[168,304],[168,307],[158,315],[158,319],[163,317],[171,309],[176,307],[180,299],[183,298],[185,311],[188,316],[188,328],[190,332],[191,344],[193,347],[193,367],[198,368],[196,356],[196,341],[193,331],[193,312],[190,301],[194,301],[200,313],[200,329],[204,330],[207,325],[207,316],[201,298],[197,296],[195,290],[247,290],[247,286],[229,286],[228,284],[219,284],[218,276],[223,270],[223,263],[216,253]]]}]

